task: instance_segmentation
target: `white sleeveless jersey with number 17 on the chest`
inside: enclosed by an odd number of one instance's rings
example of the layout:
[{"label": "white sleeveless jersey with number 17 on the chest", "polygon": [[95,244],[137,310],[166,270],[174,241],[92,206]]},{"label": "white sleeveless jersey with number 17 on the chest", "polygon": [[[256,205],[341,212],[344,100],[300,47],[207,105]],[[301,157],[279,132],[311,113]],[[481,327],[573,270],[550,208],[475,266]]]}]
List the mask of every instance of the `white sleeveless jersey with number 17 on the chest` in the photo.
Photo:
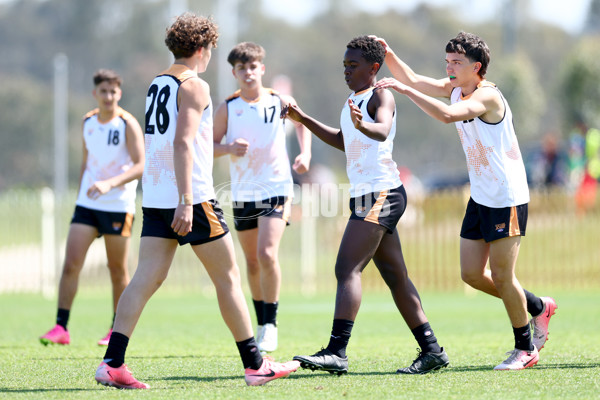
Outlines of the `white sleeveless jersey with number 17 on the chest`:
[{"label": "white sleeveless jersey with number 17 on the chest", "polygon": [[231,155],[229,172],[234,201],[258,201],[293,194],[293,181],[285,143],[281,98],[265,89],[255,101],[246,101],[238,90],[227,100],[227,143],[248,141],[248,153]]}]

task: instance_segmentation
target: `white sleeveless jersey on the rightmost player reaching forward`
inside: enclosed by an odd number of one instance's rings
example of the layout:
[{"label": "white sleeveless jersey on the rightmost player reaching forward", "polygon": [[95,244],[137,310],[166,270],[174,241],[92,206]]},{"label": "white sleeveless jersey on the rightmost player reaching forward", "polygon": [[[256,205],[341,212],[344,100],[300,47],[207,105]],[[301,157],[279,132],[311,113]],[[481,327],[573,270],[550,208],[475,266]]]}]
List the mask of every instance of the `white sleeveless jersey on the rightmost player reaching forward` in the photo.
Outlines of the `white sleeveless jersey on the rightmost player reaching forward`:
[{"label": "white sleeveless jersey on the rightmost player reaching forward", "polygon": [[[491,87],[491,82],[482,81],[477,88]],[[498,90],[500,93],[500,91]],[[481,118],[457,121],[456,129],[467,157],[471,197],[481,205],[492,208],[518,206],[529,202],[529,188],[525,165],[512,123],[512,112],[504,102],[502,121],[491,124]],[[451,103],[466,100],[461,88],[452,91]]]}]

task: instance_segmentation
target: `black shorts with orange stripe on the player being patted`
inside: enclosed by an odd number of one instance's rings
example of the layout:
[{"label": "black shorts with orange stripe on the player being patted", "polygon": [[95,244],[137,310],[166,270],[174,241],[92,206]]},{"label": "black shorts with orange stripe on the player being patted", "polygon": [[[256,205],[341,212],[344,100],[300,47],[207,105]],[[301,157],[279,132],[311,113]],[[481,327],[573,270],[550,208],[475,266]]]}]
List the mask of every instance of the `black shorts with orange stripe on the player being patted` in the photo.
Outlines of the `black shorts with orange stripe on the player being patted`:
[{"label": "black shorts with orange stripe on the player being patted", "polygon": [[350,219],[372,222],[394,232],[406,210],[404,185],[350,199]]}]

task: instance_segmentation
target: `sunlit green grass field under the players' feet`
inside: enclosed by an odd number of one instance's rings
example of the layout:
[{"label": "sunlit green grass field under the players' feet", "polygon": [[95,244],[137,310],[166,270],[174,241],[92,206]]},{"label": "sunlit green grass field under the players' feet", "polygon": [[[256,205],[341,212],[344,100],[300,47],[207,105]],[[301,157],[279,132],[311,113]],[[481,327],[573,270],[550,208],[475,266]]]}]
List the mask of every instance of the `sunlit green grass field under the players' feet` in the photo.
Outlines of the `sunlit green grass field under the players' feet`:
[{"label": "sunlit green grass field under the players' feet", "polygon": [[[341,377],[299,370],[264,387],[247,387],[237,349],[216,300],[198,293],[159,291],[132,337],[126,362],[148,391],[97,385],[104,355],[96,346],[109,319],[109,291],[82,290],[71,313],[71,345],[43,347],[55,300],[2,295],[0,398],[82,399],[591,399],[600,391],[600,294],[552,293],[558,310],[539,364],[495,372],[512,334],[499,300],[484,295],[423,293],[436,336],[451,360],[447,369],[400,376],[416,356],[416,342],[390,296],[367,292],[348,348],[350,371]],[[547,293],[540,293],[547,295]],[[285,295],[279,314],[278,361],[327,344],[333,294],[311,299]]]}]

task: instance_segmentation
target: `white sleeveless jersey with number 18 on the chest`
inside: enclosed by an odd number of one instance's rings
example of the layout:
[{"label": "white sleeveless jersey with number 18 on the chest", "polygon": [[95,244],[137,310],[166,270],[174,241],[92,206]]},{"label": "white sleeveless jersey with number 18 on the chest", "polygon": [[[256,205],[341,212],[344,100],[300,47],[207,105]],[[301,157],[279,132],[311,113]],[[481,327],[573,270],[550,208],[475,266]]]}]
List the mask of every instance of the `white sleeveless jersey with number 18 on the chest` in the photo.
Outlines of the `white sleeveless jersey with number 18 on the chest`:
[{"label": "white sleeveless jersey with number 18 on the chest", "polygon": [[133,116],[119,107],[115,118],[102,123],[98,112],[95,109],[83,117],[83,141],[88,155],[76,204],[92,210],[133,214],[137,179],[112,188],[95,200],[87,196],[94,182],[120,175],[133,166],[125,134]]}]

